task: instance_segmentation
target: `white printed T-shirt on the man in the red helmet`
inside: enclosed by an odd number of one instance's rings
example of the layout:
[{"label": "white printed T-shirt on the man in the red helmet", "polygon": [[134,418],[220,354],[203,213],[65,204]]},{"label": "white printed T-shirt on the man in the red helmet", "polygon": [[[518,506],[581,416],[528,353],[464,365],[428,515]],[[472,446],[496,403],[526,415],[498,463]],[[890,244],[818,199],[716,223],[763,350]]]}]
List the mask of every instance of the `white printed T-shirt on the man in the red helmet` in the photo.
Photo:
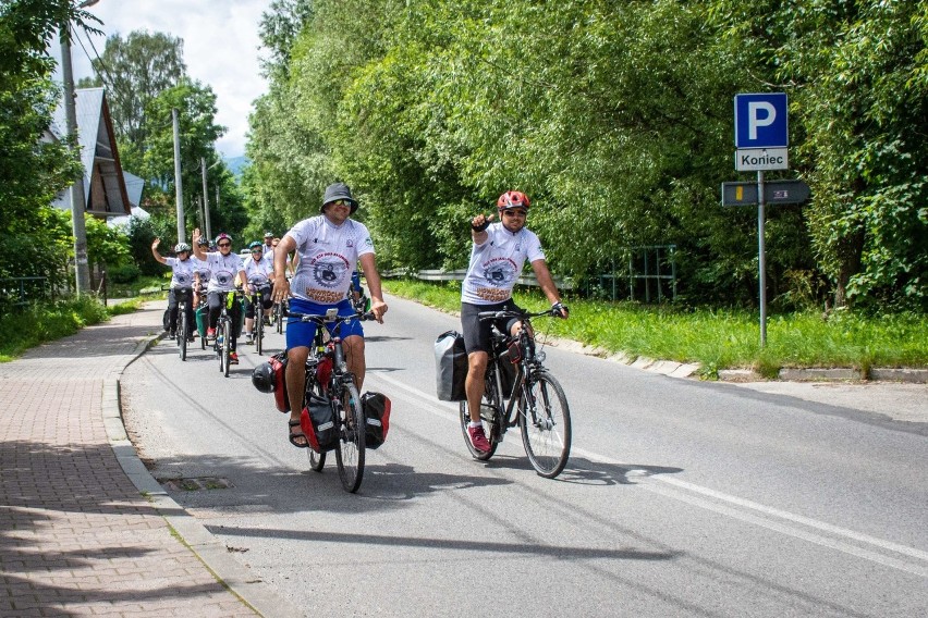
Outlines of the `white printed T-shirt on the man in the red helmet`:
[{"label": "white printed T-shirt on the man in the red helmet", "polygon": [[472,305],[492,305],[512,297],[515,281],[522,274],[525,260],[544,260],[541,242],[530,230],[523,227],[513,234],[502,223],[487,227],[483,245],[471,249],[471,264],[461,285],[461,300]]}]

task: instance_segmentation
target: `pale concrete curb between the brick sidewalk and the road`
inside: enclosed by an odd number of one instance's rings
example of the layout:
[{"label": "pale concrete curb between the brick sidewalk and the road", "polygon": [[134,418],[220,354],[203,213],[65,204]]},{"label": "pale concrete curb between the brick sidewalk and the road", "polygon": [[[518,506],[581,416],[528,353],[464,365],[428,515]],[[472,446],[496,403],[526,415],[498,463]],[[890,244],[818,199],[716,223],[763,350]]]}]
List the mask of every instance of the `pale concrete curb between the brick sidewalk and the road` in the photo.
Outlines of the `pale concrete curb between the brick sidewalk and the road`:
[{"label": "pale concrete curb between the brick sidewalk and the road", "polygon": [[262,580],[256,579],[247,567],[229,554],[223,543],[168,495],[164,487],[158,483],[138,458],[135,447],[125,433],[120,405],[119,375],[122,375],[126,367],[135,362],[162,336],[163,334],[155,335],[139,342],[133,350],[132,357],[119,370],[118,376],[103,381],[103,425],[117,460],[135,487],[151,502],[157,511],[181,537],[181,541],[233,594],[265,618],[301,616],[303,614],[301,609],[279,596]]}]

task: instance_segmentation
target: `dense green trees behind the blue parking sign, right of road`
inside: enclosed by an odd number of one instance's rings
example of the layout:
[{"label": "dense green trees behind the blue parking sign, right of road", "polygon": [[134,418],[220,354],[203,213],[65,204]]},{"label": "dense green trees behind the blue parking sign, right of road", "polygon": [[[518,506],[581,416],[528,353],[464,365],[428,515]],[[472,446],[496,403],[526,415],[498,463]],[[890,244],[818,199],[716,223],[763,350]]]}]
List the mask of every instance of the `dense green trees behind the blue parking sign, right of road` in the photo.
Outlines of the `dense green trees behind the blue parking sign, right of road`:
[{"label": "dense green trees behind the blue parking sign, right of road", "polygon": [[[694,302],[756,301],[756,212],[719,207],[732,98],[785,91],[803,206],[768,210],[769,296],[928,302],[928,4],[880,0],[276,0],[252,118],[253,222],[334,178],[381,261],[461,267],[496,196],[576,277],[675,245]],[[773,174],[769,174],[773,177]]]}]

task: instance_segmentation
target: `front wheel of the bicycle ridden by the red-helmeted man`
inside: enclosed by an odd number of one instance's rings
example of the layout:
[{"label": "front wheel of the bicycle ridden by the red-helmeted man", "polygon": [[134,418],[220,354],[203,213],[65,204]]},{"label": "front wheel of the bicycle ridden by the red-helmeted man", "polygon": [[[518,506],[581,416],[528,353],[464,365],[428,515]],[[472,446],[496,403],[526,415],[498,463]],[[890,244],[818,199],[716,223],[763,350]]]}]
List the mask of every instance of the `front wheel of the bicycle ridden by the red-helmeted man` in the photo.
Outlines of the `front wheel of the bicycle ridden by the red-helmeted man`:
[{"label": "front wheel of the bicycle ridden by the red-helmeted man", "polygon": [[560,474],[571,454],[571,410],[561,384],[547,371],[525,381],[520,394],[518,425],[535,471],[546,479]]}]

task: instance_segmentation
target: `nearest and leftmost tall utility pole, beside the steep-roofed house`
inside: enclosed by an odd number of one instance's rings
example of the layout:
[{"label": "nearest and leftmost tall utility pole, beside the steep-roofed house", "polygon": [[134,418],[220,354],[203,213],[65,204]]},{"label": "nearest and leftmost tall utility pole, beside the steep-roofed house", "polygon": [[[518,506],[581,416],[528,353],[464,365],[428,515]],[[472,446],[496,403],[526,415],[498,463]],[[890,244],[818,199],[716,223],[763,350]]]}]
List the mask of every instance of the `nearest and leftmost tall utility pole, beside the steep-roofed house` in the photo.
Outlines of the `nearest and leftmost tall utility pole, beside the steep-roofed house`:
[{"label": "nearest and leftmost tall utility pole, beside the steep-roofed house", "polygon": [[[87,5],[87,3],[82,4]],[[64,78],[64,115],[68,123],[68,137],[77,149],[77,161],[81,161],[81,144],[77,140],[77,110],[74,100],[74,73],[71,66],[71,24],[62,24],[61,38],[61,72]],[[84,223],[84,165],[74,184],[71,185],[71,231],[74,235],[74,288],[77,296],[90,292],[90,267],[87,263],[87,227]]]}]

